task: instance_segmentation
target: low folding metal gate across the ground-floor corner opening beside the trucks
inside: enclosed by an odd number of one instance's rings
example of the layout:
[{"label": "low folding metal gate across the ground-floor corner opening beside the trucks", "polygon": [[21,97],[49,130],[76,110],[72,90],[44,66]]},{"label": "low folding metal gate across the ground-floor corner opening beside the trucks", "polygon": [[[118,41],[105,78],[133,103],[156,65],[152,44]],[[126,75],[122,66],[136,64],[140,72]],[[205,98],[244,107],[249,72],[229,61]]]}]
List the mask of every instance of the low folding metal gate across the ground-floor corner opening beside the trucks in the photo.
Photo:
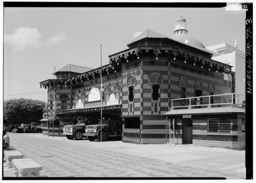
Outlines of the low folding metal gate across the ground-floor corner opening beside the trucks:
[{"label": "low folding metal gate across the ground-floor corner opening beside the trucks", "polygon": [[140,129],[124,128],[122,130],[122,142],[140,144]]}]

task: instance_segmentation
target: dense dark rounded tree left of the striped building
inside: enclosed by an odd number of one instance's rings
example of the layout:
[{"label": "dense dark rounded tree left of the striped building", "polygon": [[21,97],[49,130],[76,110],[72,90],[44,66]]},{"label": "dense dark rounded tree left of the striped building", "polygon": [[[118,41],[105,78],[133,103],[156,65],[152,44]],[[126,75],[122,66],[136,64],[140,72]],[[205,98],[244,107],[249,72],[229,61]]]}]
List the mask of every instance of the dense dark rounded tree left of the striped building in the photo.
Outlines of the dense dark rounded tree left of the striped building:
[{"label": "dense dark rounded tree left of the striped building", "polygon": [[4,101],[4,125],[29,124],[42,119],[45,102],[32,99],[10,99]]}]

